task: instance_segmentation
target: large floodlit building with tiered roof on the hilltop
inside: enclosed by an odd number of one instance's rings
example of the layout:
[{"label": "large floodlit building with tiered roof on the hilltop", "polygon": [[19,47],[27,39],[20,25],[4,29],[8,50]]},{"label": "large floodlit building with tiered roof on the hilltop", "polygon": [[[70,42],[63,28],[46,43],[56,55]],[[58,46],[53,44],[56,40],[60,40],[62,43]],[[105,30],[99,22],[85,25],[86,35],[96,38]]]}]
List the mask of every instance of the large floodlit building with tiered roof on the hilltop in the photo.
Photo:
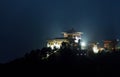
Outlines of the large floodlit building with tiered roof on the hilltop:
[{"label": "large floodlit building with tiered roof on the hilltop", "polygon": [[[57,48],[60,49],[63,42],[68,43],[70,46],[77,46],[81,40],[82,32],[76,32],[74,29],[68,30],[66,32],[62,32],[62,38],[54,38],[47,40],[47,47],[52,49]],[[85,45],[85,44],[82,44]]]}]

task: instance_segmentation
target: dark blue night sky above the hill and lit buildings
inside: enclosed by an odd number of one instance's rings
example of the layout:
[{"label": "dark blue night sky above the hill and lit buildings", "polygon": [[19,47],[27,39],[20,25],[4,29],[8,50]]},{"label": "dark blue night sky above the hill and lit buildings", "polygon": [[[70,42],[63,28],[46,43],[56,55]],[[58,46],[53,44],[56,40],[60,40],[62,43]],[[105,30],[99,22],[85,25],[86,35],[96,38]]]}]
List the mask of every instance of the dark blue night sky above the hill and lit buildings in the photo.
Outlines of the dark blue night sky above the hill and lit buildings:
[{"label": "dark blue night sky above the hill and lit buildings", "polygon": [[0,62],[75,28],[86,40],[120,38],[119,0],[1,0]]}]

